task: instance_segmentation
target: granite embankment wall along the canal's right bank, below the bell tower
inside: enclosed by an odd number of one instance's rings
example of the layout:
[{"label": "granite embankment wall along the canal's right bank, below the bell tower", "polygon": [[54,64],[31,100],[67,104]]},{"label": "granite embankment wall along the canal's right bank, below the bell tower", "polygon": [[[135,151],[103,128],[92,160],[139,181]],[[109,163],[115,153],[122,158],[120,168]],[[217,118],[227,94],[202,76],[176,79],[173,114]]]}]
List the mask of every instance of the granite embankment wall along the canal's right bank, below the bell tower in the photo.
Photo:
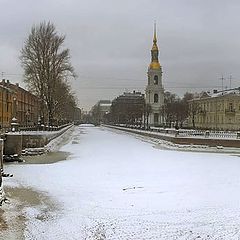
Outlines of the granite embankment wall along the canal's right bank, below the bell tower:
[{"label": "granite embankment wall along the canal's right bank, below the bell tower", "polygon": [[240,148],[240,139],[224,139],[224,138],[210,138],[210,137],[181,137],[176,136],[175,134],[161,134],[146,130],[138,130],[138,129],[131,129],[125,127],[118,127],[118,126],[111,126],[111,125],[104,125],[105,127],[113,128],[122,130],[125,132],[135,133],[142,136],[162,139],[165,141],[169,141],[175,144],[182,144],[182,145],[206,145],[209,147],[216,147],[216,146],[223,146],[223,147],[234,147]]}]

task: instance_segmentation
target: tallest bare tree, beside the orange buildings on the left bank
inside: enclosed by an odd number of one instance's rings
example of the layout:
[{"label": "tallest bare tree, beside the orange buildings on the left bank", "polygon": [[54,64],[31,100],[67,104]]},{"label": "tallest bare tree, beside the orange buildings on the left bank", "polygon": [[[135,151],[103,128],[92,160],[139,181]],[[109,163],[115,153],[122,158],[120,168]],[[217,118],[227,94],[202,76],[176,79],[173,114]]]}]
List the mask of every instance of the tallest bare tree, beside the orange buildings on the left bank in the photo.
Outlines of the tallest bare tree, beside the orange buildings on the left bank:
[{"label": "tallest bare tree, beside the orange buildings on the left bank", "polygon": [[42,22],[32,27],[21,50],[24,80],[42,100],[42,112],[46,104],[49,124],[54,118],[59,83],[66,81],[68,76],[76,76],[69,49],[63,48],[64,40],[65,36],[59,35],[52,23]]}]

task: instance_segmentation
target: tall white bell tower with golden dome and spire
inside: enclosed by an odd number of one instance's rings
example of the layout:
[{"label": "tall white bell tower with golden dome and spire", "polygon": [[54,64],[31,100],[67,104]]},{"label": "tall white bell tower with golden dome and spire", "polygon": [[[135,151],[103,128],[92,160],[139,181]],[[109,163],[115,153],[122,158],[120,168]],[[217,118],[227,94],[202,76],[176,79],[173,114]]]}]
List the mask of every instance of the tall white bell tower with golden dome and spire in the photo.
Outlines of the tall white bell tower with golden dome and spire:
[{"label": "tall white bell tower with golden dome and spire", "polygon": [[156,24],[154,25],[153,46],[151,50],[151,63],[148,67],[148,83],[145,90],[146,104],[150,107],[148,122],[151,126],[159,126],[164,123],[163,104],[164,89],[162,85],[162,67],[158,60],[158,45]]}]

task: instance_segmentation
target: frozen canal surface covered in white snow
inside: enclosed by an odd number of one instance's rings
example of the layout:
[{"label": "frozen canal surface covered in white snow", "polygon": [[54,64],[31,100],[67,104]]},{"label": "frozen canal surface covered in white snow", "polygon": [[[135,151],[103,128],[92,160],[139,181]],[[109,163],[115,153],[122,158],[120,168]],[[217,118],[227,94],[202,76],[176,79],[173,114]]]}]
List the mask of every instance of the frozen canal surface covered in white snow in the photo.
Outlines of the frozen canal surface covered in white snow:
[{"label": "frozen canal surface covered in white snow", "polygon": [[25,239],[240,239],[240,158],[161,150],[133,135],[76,127],[52,164],[7,166],[52,199],[26,205]]}]

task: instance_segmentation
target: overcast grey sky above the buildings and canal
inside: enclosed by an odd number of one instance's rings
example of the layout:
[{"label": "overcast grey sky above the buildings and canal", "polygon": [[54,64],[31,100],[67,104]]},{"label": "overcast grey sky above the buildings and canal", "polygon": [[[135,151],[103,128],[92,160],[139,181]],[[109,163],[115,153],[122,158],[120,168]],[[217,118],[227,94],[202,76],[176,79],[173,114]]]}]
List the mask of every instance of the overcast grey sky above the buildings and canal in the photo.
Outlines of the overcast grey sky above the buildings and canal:
[{"label": "overcast grey sky above the buildings and canal", "polygon": [[22,82],[19,52],[33,24],[51,21],[66,35],[78,74],[72,82],[79,106],[123,91],[144,91],[153,22],[166,90],[239,86],[238,0],[0,0],[0,72]]}]

